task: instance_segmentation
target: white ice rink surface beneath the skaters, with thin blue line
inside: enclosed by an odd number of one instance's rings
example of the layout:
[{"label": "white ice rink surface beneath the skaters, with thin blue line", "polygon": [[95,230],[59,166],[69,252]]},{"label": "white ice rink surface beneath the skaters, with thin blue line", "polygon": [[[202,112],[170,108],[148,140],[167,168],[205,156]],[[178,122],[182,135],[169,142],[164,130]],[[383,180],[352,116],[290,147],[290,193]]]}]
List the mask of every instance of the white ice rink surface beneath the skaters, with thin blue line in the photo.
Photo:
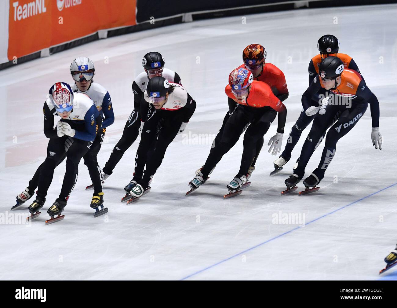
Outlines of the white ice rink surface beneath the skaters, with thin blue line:
[{"label": "white ice rink surface beneath the skaters, with thin blue line", "polygon": [[[247,15],[246,24],[242,16],[208,19],[95,41],[1,71],[0,279],[397,279],[395,270],[378,275],[397,242],[396,13],[396,5],[380,5]],[[324,34],[338,37],[340,52],[353,57],[378,97],[382,151],[372,146],[368,108],[338,142],[320,190],[280,196],[310,126],[284,170],[269,177],[276,157],[268,153],[267,142],[276,133],[275,120],[264,137],[251,187],[243,194],[222,198],[238,172],[240,138],[210,180],[185,197],[187,183],[204,164],[222,124],[224,87],[229,72],[242,63],[243,48],[264,45],[266,62],[285,74],[284,148],[302,108],[308,63],[318,54],[317,40]],[[94,61],[94,80],[108,89],[116,116],[98,155],[103,167],[133,110],[131,84],[149,51],[163,54],[166,67],[181,76],[197,101],[186,134],[168,147],[151,192],[130,205],[119,202],[132,177],[137,139],[104,184],[108,215],[93,217],[92,191],[85,191],[91,180],[81,162],[65,219],[44,225],[46,209],[60,192],[62,163],[41,216],[31,225],[12,224],[8,215],[26,214],[33,200],[10,212],[15,196],[46,155],[42,105],[49,87],[56,81],[73,82],[73,58]],[[306,176],[318,165],[323,146],[314,153]],[[288,216],[299,219],[285,220]]]}]

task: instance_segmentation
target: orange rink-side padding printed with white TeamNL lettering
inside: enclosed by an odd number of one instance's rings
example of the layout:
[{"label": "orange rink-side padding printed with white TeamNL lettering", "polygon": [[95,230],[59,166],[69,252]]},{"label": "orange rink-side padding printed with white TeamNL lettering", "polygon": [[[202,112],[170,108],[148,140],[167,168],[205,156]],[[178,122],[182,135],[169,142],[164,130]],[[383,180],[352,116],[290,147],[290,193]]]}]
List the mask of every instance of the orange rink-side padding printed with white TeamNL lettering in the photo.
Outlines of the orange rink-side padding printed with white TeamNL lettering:
[{"label": "orange rink-side padding printed with white TeamNL lettering", "polygon": [[101,29],[136,24],[136,0],[9,1],[8,60]]}]

